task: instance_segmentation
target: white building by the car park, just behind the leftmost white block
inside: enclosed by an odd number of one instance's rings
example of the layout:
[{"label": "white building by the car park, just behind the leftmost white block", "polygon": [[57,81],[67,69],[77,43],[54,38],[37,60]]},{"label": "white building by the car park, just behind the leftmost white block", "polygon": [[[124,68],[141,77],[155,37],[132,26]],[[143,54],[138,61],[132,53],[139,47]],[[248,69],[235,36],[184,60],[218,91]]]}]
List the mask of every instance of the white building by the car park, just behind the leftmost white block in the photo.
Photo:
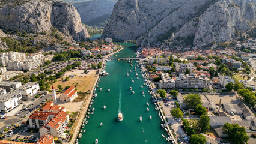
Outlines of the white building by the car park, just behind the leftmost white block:
[{"label": "white building by the car park, just behind the leftmost white block", "polygon": [[17,88],[17,91],[22,94],[22,100],[28,100],[29,98],[37,95],[39,90],[39,84],[35,82],[28,82]]}]

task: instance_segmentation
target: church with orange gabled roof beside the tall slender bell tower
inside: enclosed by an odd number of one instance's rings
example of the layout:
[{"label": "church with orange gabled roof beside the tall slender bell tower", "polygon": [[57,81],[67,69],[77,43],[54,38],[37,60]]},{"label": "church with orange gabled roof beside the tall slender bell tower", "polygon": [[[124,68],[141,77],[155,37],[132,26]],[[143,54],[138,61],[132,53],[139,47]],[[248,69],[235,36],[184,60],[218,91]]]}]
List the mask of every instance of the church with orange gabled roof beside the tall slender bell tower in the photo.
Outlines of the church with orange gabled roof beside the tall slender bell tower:
[{"label": "church with orange gabled roof beside the tall slender bell tower", "polygon": [[78,96],[78,92],[73,86],[67,89],[59,96],[59,100],[62,102],[71,102]]}]

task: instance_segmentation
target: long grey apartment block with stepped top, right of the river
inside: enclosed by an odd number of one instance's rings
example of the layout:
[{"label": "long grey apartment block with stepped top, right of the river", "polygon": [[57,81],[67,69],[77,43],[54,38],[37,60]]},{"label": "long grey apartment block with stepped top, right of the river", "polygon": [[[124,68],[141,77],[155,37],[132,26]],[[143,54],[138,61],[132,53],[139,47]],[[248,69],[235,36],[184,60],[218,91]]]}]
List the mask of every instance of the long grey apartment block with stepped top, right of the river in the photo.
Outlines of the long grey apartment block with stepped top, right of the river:
[{"label": "long grey apartment block with stepped top, right of the river", "polygon": [[210,80],[197,74],[180,74],[176,77],[176,88],[209,88]]}]

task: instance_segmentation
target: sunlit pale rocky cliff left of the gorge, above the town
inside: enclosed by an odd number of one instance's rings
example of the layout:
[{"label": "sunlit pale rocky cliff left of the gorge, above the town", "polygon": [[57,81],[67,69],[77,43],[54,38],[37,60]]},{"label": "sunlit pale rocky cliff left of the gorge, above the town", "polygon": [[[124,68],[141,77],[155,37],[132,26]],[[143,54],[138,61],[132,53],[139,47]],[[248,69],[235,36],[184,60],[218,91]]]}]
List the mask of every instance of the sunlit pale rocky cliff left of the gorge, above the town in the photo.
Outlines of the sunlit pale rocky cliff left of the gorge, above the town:
[{"label": "sunlit pale rocky cliff left of the gorge, above the town", "polygon": [[0,8],[0,27],[28,33],[57,28],[76,41],[89,37],[76,8],[62,1],[31,0],[15,7],[4,5]]}]

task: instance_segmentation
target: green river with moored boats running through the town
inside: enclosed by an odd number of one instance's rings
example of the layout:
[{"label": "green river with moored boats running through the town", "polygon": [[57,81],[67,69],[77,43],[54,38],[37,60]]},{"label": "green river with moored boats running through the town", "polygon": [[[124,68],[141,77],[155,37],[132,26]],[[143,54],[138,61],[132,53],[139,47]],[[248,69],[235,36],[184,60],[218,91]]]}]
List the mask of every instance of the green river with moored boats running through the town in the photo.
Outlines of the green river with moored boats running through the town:
[{"label": "green river with moored boats running through the town", "polygon": [[[136,47],[134,44],[121,43],[124,50],[117,53],[117,57],[135,57]],[[151,102],[151,95],[147,92],[147,86],[144,86],[144,79],[140,74],[140,68],[137,67],[138,77],[136,79],[135,66],[133,67],[128,61],[112,60],[106,62],[106,72],[109,76],[101,77],[99,88],[97,88],[97,97],[94,98],[91,108],[95,108],[93,115],[89,115],[88,124],[85,125],[85,133],[79,139],[79,143],[94,143],[99,139],[103,144],[131,144],[131,143],[168,143],[162,134],[167,136],[165,130],[160,126],[161,119],[158,111],[155,110]],[[127,71],[132,70],[127,76]],[[134,83],[132,83],[133,78]],[[144,88],[141,88],[141,85]],[[130,87],[135,91],[132,94]],[[102,91],[99,89],[102,88]],[[110,91],[108,92],[108,89]],[[145,91],[143,97],[142,90]],[[149,106],[147,106],[147,103]],[[106,109],[103,109],[103,106]],[[147,107],[149,111],[147,111]],[[117,121],[118,111],[123,113],[123,121]],[[139,121],[142,115],[143,121]],[[149,116],[152,116],[152,119]],[[100,126],[100,123],[103,125]]]}]

